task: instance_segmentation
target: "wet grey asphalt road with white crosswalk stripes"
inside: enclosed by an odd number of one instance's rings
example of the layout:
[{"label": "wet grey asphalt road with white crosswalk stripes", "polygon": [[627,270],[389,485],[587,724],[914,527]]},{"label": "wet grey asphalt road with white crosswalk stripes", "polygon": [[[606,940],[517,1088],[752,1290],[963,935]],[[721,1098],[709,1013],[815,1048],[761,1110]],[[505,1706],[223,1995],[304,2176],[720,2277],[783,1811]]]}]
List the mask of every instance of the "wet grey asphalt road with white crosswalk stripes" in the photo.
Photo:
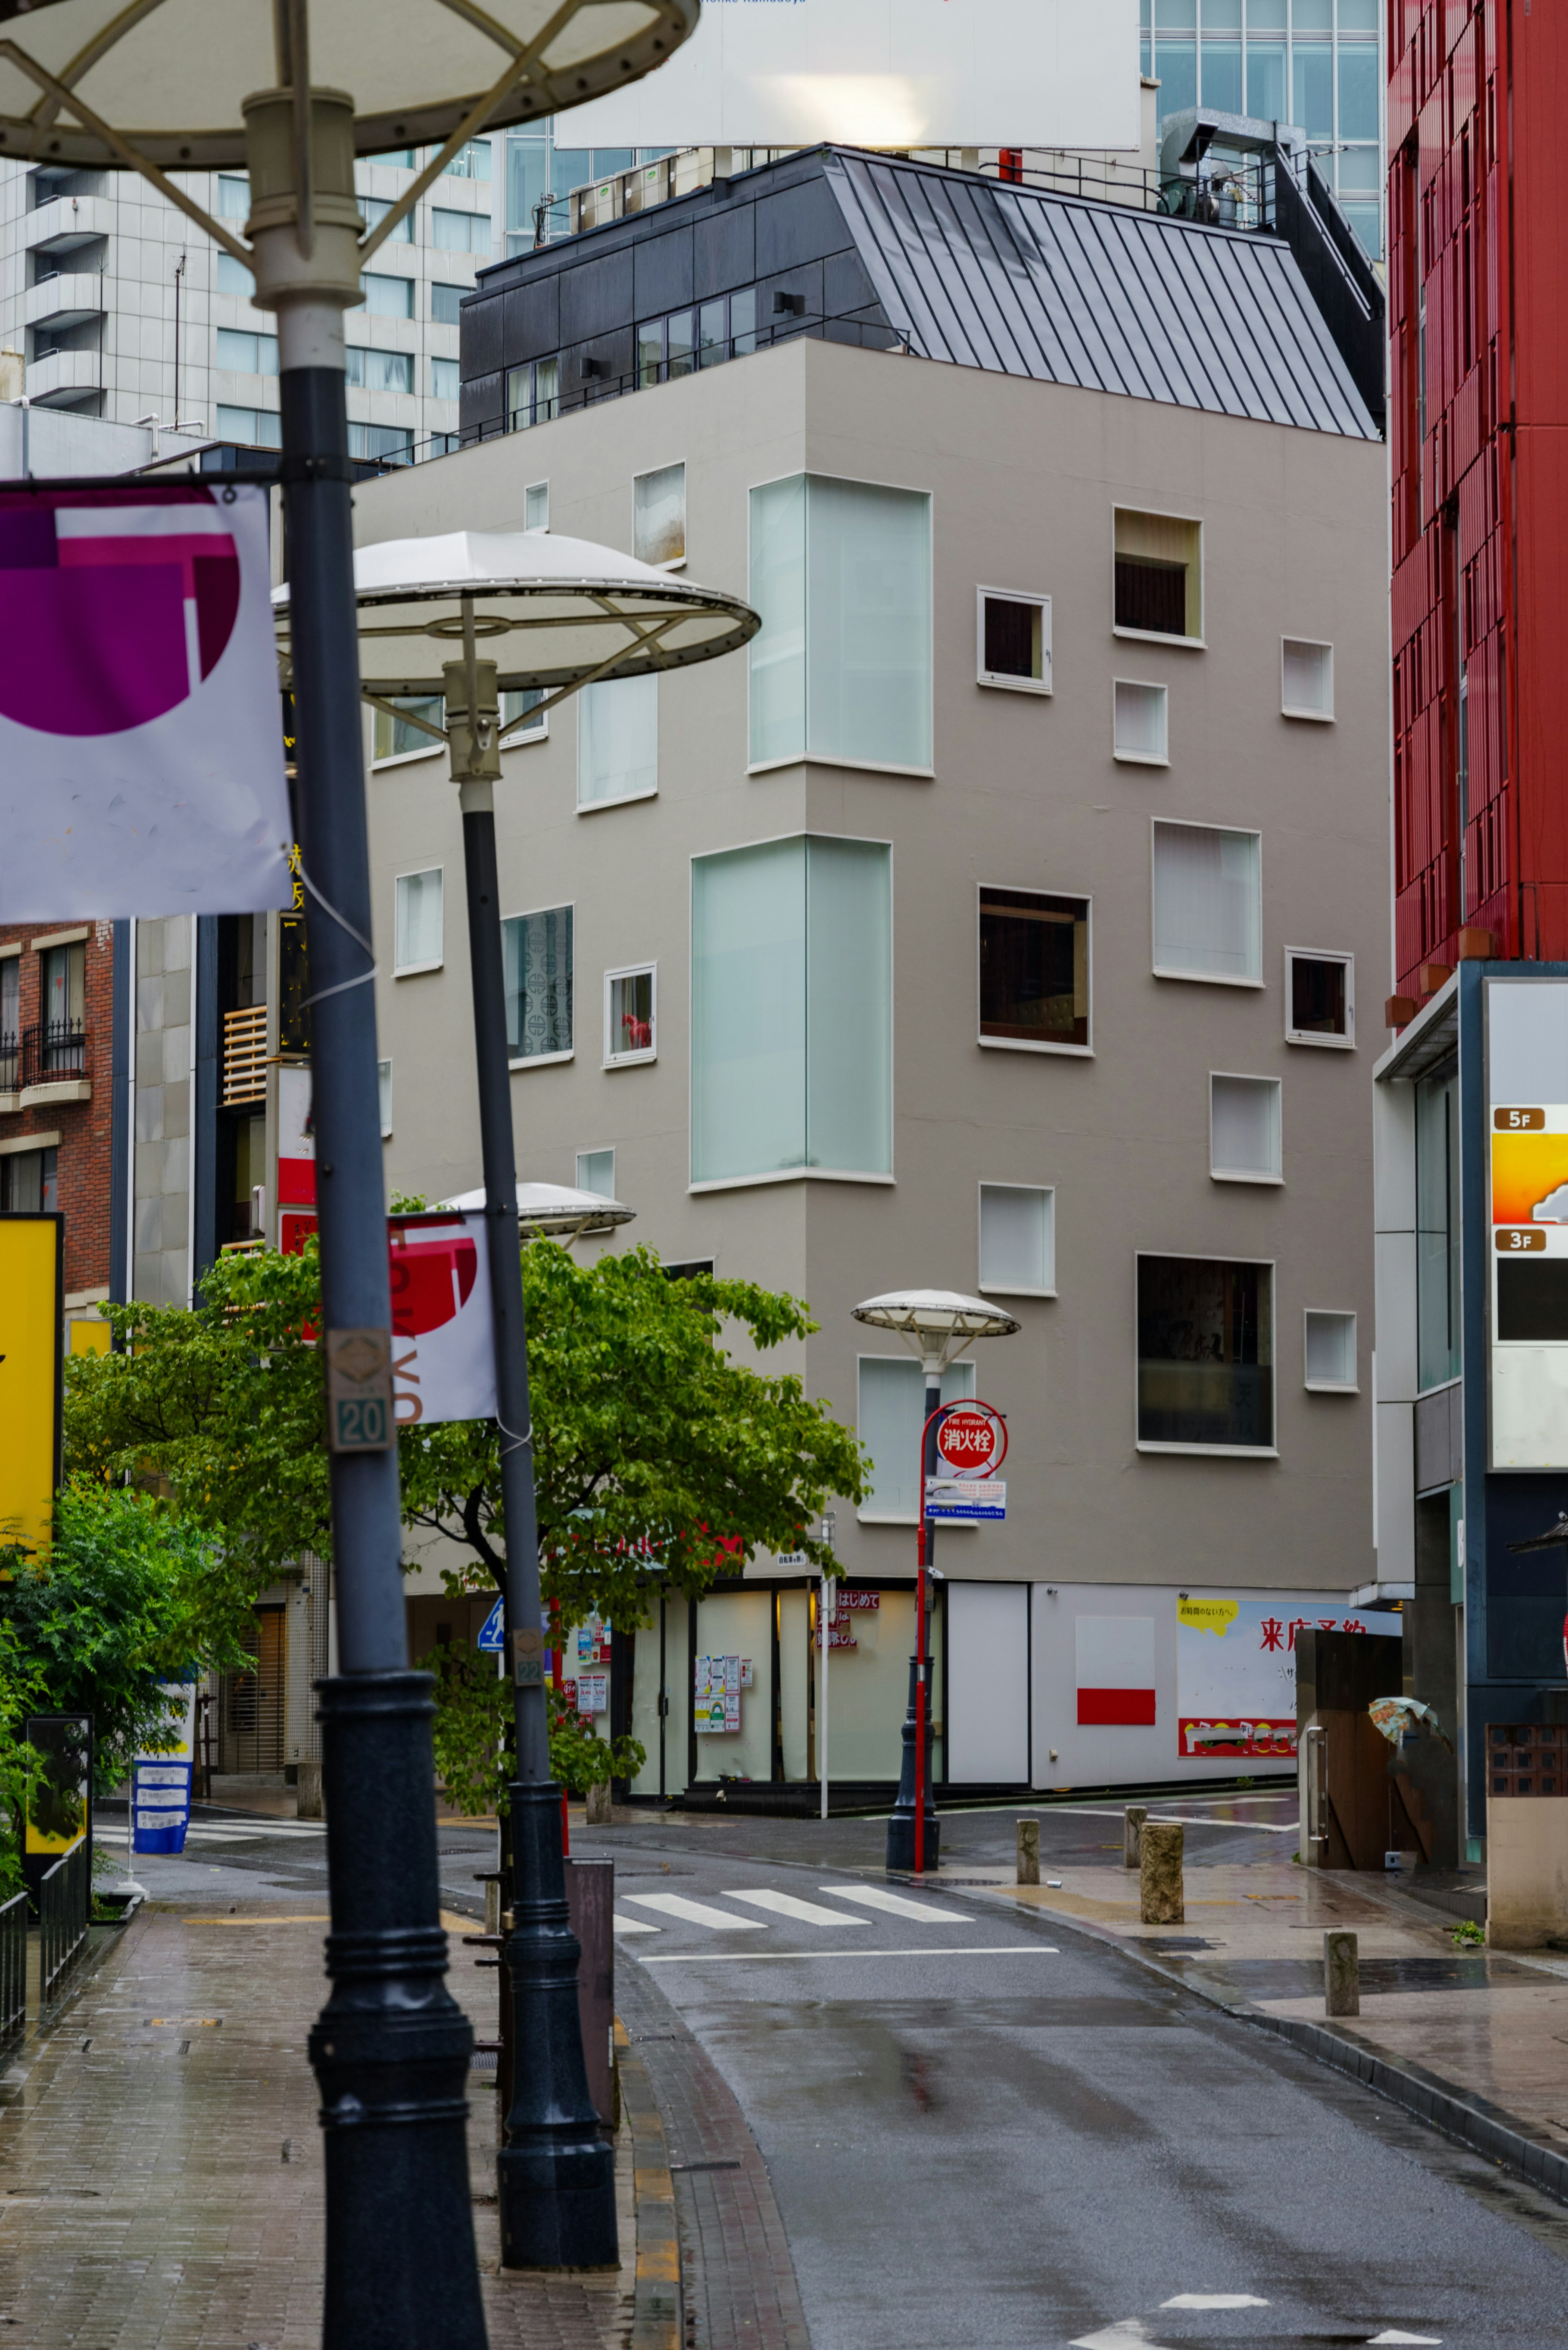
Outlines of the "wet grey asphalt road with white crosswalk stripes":
[{"label": "wet grey asphalt road with white crosswalk stripes", "polygon": [[[1114,1819],[1044,1819],[1046,1866],[1086,1847],[1119,1866]],[[947,1819],[954,1873],[1011,1852],[1011,1821]],[[745,2110],[813,2350],[1561,2350],[1568,2211],[978,1887],[893,1887],[919,1915],[853,1899],[886,1889],[882,1833],[644,1817],[576,1847],[616,1856],[616,1911],[642,1929],[618,1965],[646,1969]],[[1190,1866],[1265,1849],[1262,1826],[1187,1838]],[[442,1831],[447,1904],[477,1906],[489,1849]],[[165,1892],[174,1868],[183,1896],[195,1878],[207,1899],[254,1899],[259,1878],[320,1894],[324,1845],[247,1831],[141,1880]]]}]

